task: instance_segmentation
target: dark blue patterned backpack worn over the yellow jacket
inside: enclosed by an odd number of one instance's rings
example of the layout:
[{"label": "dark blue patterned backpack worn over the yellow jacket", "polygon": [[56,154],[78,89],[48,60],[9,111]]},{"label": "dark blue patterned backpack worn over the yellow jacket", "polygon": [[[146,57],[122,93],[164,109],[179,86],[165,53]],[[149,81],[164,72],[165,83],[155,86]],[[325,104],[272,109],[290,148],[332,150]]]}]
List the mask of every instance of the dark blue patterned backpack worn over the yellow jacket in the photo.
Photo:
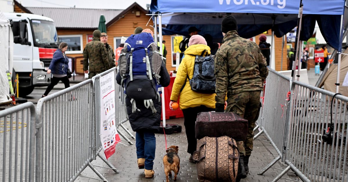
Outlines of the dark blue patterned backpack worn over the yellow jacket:
[{"label": "dark blue patterned backpack worn over the yellow jacket", "polygon": [[192,79],[187,75],[191,90],[202,94],[215,93],[216,78],[214,74],[213,57],[213,55],[208,56],[207,50],[204,50],[200,56],[196,56]]}]

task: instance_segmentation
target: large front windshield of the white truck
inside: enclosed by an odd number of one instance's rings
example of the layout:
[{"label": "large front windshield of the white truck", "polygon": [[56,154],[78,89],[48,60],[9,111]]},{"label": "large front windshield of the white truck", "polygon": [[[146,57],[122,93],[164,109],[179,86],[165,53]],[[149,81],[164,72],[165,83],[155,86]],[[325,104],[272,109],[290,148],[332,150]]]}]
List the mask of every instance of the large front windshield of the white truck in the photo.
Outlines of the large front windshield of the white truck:
[{"label": "large front windshield of the white truck", "polygon": [[31,20],[34,42],[36,44],[56,44],[58,36],[53,22],[46,20]]}]

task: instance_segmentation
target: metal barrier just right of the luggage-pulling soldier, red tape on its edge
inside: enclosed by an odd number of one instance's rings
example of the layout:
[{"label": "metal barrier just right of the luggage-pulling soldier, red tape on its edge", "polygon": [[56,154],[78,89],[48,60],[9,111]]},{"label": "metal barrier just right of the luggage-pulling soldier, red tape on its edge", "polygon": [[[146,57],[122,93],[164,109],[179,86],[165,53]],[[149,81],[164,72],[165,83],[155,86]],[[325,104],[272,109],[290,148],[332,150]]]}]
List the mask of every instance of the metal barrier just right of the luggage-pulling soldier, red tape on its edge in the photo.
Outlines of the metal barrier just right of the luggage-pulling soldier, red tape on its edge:
[{"label": "metal barrier just right of the luggage-pulling soldier, red tape on its edge", "polygon": [[[264,90],[264,103],[260,111],[258,126],[260,132],[254,136],[258,138],[265,133],[271,145],[276,149],[278,157],[274,159],[258,174],[262,175],[282,158],[282,147],[284,144],[284,132],[287,125],[287,105],[290,93],[290,78],[281,73],[269,69]],[[256,129],[255,129],[256,130]]]}]

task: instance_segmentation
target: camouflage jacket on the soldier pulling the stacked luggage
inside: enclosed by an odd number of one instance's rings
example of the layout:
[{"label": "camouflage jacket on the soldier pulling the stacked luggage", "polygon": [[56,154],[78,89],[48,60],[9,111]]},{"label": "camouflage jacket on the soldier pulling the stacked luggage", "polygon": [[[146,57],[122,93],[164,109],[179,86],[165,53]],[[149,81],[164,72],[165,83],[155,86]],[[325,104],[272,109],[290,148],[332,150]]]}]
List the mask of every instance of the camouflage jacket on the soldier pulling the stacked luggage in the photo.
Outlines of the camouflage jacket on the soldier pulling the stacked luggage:
[{"label": "camouflage jacket on the soldier pulling the stacked luggage", "polygon": [[236,31],[227,32],[223,44],[215,54],[217,103],[224,103],[225,96],[263,90],[268,75],[266,58],[259,46],[242,38]]}]

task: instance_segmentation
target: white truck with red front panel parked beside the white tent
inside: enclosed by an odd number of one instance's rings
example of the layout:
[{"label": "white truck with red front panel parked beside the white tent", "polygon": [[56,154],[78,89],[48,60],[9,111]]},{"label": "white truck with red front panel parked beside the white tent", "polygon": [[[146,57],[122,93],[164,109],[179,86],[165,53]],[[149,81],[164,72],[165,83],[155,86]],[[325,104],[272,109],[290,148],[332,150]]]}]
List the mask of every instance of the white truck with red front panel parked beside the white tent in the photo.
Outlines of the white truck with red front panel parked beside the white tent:
[{"label": "white truck with red front panel parked beside the white tent", "polygon": [[34,87],[48,86],[47,74],[58,36],[54,21],[48,17],[26,13],[4,13],[13,31],[13,78],[18,74],[19,95],[29,95]]}]

